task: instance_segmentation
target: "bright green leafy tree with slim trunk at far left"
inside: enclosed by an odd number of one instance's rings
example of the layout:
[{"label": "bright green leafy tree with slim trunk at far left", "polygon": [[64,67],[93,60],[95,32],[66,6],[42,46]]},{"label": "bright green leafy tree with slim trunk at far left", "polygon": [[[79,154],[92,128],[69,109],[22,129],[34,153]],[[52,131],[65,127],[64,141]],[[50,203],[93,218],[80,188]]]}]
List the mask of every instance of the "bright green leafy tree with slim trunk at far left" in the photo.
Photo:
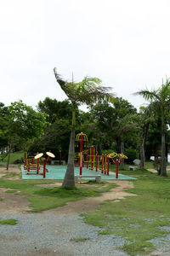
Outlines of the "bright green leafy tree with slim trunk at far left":
[{"label": "bright green leafy tree with slim trunk at far left", "polygon": [[40,137],[43,127],[46,124],[46,114],[38,113],[24,102],[12,102],[8,106],[8,163],[14,143],[19,142],[25,145],[30,140]]}]

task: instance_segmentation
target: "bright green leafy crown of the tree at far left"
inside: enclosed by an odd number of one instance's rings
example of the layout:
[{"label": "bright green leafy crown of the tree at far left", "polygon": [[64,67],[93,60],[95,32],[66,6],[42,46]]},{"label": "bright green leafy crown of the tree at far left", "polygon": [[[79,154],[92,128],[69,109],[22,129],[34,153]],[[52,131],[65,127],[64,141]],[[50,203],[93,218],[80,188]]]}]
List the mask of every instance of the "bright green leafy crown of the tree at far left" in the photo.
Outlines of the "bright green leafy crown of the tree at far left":
[{"label": "bright green leafy crown of the tree at far left", "polygon": [[[46,124],[45,113],[38,113],[24,102],[12,102],[8,107],[0,108],[0,146],[8,146],[8,156],[13,148],[26,146],[36,137],[40,137]],[[0,125],[1,126],[1,125]],[[8,168],[8,167],[7,167]]]}]

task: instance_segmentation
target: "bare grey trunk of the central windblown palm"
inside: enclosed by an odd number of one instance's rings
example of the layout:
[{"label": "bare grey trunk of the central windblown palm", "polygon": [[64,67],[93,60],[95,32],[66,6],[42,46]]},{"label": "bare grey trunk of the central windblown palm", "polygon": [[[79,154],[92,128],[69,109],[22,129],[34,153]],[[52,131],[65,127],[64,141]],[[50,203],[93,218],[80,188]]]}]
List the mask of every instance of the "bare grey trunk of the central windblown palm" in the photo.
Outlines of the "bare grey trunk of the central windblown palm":
[{"label": "bare grey trunk of the central windblown palm", "polygon": [[72,126],[71,126],[71,138],[69,145],[69,155],[67,169],[65,172],[65,178],[62,183],[62,187],[74,188],[75,187],[75,175],[74,175],[74,159],[75,159],[75,108],[72,110]]}]

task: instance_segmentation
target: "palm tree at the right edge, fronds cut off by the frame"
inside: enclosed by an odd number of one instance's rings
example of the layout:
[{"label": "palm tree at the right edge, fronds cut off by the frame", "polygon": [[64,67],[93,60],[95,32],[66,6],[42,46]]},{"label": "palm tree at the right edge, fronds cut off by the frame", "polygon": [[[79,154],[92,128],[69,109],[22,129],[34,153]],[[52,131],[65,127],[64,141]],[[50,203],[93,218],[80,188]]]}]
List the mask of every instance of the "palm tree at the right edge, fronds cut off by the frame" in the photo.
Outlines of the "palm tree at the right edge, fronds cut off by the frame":
[{"label": "palm tree at the right edge, fronds cut off by the frame", "polygon": [[165,130],[166,130],[166,111],[169,109],[170,103],[170,80],[166,79],[165,84],[157,90],[139,90],[136,95],[143,96],[145,100],[155,102],[161,110],[161,176],[167,176],[166,170],[166,146],[165,146]]}]

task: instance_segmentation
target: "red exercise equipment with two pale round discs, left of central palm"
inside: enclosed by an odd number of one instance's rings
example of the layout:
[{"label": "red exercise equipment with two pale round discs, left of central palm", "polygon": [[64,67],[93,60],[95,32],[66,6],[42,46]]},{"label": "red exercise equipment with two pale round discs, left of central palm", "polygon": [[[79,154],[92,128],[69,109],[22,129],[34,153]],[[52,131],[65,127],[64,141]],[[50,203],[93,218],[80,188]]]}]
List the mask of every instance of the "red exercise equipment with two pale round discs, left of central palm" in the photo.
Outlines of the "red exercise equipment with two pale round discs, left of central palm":
[{"label": "red exercise equipment with two pale round discs, left of central palm", "polygon": [[[46,177],[46,172],[48,172],[48,169],[46,168],[46,163],[50,158],[54,158],[54,154],[51,152],[46,152],[48,155],[47,160],[43,159],[42,160],[42,155],[43,153],[36,154],[34,157],[28,158],[27,157],[27,152],[24,152],[24,169],[27,171],[26,174],[37,174],[37,175],[42,175],[43,177]],[[40,165],[40,161],[42,161],[42,165]],[[42,172],[41,171],[42,168]],[[32,172],[36,171],[36,172]]]}]

